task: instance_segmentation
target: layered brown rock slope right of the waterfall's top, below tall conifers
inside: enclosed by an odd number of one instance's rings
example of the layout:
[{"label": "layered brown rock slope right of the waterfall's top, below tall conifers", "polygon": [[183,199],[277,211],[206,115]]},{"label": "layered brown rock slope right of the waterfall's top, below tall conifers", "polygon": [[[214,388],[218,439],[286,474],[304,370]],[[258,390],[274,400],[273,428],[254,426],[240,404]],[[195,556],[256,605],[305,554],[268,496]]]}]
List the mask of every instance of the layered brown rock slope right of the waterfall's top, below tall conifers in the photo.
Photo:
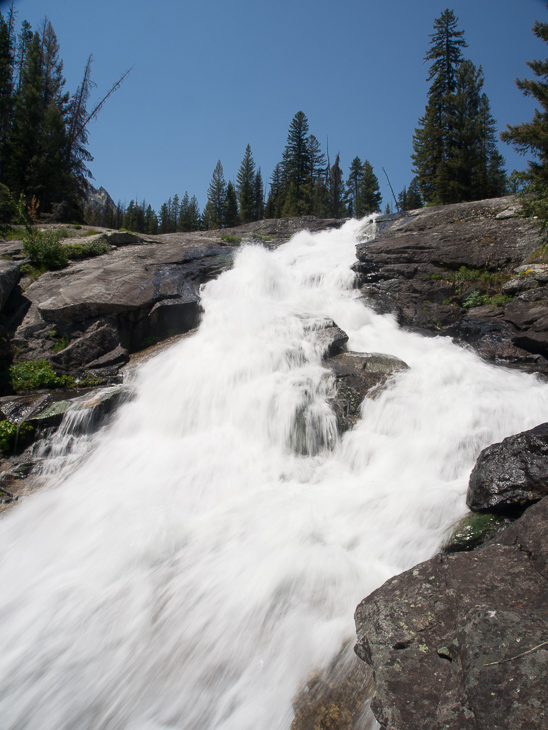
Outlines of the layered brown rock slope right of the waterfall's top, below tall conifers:
[{"label": "layered brown rock slope right of the waterfall's top, below tall conifers", "polygon": [[548,266],[518,214],[508,197],[381,218],[377,238],[357,247],[364,295],[403,326],[548,372]]}]

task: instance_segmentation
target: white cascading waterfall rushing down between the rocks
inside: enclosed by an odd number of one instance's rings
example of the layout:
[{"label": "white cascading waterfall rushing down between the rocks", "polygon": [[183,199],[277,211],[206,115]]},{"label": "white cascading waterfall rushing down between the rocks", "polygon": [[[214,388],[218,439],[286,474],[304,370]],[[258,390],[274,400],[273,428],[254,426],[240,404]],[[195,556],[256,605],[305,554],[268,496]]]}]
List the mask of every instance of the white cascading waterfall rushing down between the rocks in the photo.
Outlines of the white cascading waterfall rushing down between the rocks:
[{"label": "white cascading waterfall rushing down between the rocks", "polygon": [[[0,521],[3,729],[287,730],[357,603],[465,511],[480,449],[548,420],[535,377],[363,306],[360,225],[243,248],[84,463]],[[340,441],[327,317],[410,366]]]}]

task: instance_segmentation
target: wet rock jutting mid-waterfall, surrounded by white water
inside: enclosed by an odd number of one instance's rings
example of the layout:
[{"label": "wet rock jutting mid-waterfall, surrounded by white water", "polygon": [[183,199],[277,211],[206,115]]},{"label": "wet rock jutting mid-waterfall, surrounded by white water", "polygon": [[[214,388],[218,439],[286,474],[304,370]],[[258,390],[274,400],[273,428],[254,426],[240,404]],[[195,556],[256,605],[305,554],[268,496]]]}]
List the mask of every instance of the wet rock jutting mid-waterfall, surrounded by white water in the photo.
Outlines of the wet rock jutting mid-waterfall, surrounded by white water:
[{"label": "wet rock jutting mid-waterfall, surrounded by white water", "polygon": [[408,365],[392,355],[363,352],[341,353],[326,360],[325,365],[336,378],[336,394],[330,399],[330,405],[341,433],[359,421],[366,395],[371,396],[395,373],[408,369]]}]

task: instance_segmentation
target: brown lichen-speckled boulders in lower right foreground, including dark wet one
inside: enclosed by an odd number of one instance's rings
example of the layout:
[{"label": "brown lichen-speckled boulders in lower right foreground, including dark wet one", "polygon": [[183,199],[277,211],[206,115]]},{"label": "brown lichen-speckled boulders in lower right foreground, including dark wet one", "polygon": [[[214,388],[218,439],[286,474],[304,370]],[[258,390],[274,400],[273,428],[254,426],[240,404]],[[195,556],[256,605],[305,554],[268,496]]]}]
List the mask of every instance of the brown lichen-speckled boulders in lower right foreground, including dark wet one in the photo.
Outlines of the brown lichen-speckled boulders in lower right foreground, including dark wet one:
[{"label": "brown lichen-speckled boulders in lower right foreground, including dark wet one", "polygon": [[467,518],[444,553],[358,606],[355,651],[384,730],[548,726],[547,439],[543,424],[485,449],[470,478],[473,509],[537,504],[511,522]]}]

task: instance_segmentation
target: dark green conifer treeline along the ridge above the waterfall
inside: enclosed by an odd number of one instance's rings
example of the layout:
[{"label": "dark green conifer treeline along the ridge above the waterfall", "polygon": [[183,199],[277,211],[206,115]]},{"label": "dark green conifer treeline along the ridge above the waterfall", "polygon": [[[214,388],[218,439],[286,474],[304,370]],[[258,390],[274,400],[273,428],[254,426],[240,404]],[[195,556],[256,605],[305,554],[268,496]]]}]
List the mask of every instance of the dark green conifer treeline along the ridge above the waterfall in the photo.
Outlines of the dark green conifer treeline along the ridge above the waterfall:
[{"label": "dark green conifer treeline along the ridge above the waterfall", "polygon": [[[409,210],[497,197],[515,192],[527,177],[506,174],[483,91],[484,74],[465,58],[464,31],[457,24],[449,9],[434,23],[426,54],[431,85],[413,136],[413,177],[386,203],[387,213],[393,206]],[[537,31],[542,26],[536,24]],[[331,161],[302,111],[291,120],[268,191],[247,145],[235,177],[226,180],[221,160],[217,162],[203,210],[188,191],[173,195],[158,211],[145,200],[94,204],[87,123],[101,104],[88,113],[92,59],[71,95],[64,88],[59,50],[47,18],[37,31],[27,21],[17,31],[13,6],[5,16],[0,14],[0,223],[21,196],[27,204],[33,200],[43,218],[149,234],[232,227],[262,218],[363,217],[382,209],[379,179],[370,161],[356,156],[343,171],[340,154]],[[517,144],[511,133],[516,128],[509,129],[503,139]],[[521,151],[530,147],[522,141]]]}]

